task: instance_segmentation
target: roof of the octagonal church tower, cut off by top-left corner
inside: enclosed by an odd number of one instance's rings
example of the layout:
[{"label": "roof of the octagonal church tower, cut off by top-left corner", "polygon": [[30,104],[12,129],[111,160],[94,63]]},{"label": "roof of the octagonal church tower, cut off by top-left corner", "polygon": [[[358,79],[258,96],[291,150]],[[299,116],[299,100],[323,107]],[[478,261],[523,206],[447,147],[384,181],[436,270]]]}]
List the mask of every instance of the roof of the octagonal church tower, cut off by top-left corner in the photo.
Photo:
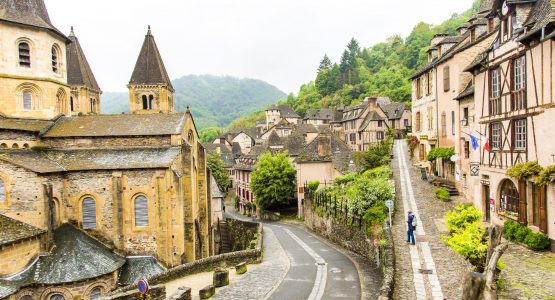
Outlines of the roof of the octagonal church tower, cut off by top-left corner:
[{"label": "roof of the octagonal church tower, cut off by top-left corner", "polygon": [[51,30],[67,40],[52,25],[43,0],[0,0],[0,20]]}]

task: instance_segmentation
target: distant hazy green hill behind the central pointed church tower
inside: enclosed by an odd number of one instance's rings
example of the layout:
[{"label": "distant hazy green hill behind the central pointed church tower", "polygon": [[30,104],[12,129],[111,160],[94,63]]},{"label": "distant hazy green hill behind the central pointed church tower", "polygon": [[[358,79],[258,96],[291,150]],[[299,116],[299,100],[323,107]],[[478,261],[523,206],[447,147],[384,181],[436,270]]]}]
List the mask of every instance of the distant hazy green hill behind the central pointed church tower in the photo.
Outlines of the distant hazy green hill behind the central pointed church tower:
[{"label": "distant hazy green hill behind the central pointed church tower", "polygon": [[[185,111],[188,105],[199,129],[227,127],[233,120],[286,97],[264,81],[230,76],[187,75],[172,84],[176,111]],[[129,112],[128,93],[105,92],[101,109],[105,114]]]}]

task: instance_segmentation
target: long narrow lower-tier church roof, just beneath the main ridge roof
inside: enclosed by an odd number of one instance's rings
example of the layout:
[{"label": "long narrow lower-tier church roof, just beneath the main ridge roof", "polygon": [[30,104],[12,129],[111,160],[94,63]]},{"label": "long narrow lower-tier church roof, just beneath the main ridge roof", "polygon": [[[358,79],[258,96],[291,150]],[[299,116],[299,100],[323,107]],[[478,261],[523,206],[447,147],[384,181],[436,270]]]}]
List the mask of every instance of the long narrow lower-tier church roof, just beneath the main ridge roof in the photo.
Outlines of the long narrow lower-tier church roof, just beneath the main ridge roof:
[{"label": "long narrow lower-tier church roof, just beneath the main ridge roof", "polygon": [[85,170],[157,169],[171,165],[179,147],[143,149],[82,149],[0,151],[0,160],[36,173]]}]

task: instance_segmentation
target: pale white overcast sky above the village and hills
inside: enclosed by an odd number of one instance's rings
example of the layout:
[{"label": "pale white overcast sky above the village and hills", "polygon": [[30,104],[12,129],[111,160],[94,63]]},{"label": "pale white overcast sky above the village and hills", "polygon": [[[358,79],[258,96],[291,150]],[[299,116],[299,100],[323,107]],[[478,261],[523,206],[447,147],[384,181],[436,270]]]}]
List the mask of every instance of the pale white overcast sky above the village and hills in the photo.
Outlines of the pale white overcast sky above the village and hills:
[{"label": "pale white overcast sky above the village and hills", "polygon": [[369,47],[439,23],[472,0],[45,0],[53,24],[70,26],[104,91],[125,91],[147,25],[170,78],[262,79],[286,93],[312,80],[327,53],[351,37]]}]

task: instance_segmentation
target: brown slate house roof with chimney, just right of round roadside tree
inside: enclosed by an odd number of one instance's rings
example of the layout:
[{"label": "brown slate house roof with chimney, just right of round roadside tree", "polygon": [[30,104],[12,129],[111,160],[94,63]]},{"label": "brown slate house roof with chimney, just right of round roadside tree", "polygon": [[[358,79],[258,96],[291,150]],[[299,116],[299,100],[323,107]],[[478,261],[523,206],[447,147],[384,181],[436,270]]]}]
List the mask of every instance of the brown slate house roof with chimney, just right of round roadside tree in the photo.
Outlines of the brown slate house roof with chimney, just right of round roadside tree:
[{"label": "brown slate house roof with chimney, just right of round roadside tree", "polygon": [[325,136],[318,136],[302,149],[296,159],[297,163],[331,162],[335,169],[341,173],[352,171],[355,166],[351,163],[352,152],[349,145],[345,144],[336,134],[327,135],[331,145],[331,156],[320,156],[318,153],[318,143],[322,137]]}]

